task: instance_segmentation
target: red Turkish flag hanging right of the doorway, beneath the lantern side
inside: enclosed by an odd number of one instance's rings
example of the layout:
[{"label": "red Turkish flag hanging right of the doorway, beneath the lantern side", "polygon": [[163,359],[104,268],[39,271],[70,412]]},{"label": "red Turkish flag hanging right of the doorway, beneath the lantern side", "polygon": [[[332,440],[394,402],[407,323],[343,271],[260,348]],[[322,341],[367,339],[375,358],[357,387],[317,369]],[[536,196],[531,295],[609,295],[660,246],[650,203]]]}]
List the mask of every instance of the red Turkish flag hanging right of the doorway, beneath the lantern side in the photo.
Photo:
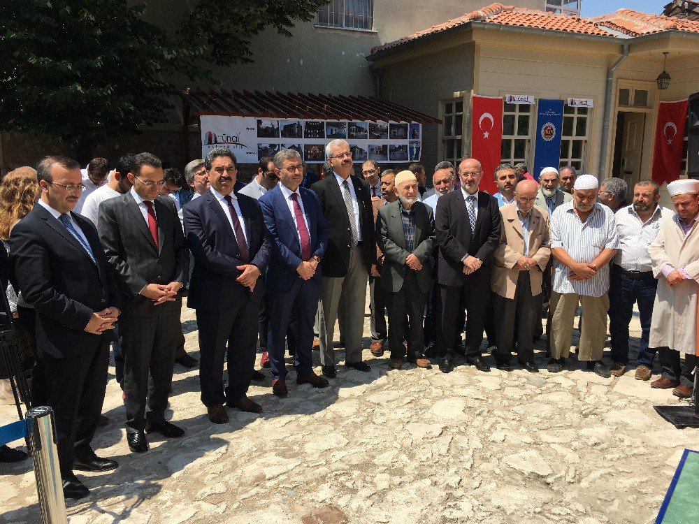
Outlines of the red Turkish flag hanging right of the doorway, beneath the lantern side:
[{"label": "red Turkish flag hanging right of the doorway, beneath the lantern side", "polygon": [[686,100],[661,102],[658,105],[656,145],[653,154],[653,180],[658,184],[679,179],[686,121]]}]

